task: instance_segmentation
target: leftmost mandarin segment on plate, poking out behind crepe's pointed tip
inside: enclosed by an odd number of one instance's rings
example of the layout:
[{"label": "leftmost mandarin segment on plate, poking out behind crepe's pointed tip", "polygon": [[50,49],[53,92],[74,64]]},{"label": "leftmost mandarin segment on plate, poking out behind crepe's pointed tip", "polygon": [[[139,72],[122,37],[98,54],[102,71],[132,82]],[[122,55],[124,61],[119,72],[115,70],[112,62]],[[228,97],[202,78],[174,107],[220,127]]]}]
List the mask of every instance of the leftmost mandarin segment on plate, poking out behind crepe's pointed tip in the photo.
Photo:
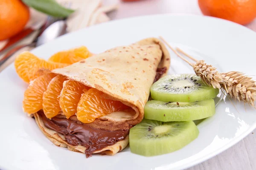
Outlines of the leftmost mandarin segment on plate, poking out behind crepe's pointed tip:
[{"label": "leftmost mandarin segment on plate, poking out behind crepe's pointed tip", "polygon": [[41,68],[53,70],[55,68],[65,67],[69,64],[46,61],[26,51],[16,57],[14,65],[19,77],[25,82],[30,82],[38,77],[36,74]]}]

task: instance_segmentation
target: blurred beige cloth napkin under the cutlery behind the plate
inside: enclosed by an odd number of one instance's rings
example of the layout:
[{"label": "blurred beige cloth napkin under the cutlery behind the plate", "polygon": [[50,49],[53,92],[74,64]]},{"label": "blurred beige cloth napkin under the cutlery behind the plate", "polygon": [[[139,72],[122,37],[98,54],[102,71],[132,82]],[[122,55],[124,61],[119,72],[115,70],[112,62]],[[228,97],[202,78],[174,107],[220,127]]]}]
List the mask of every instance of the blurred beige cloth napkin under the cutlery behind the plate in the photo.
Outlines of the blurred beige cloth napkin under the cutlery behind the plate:
[{"label": "blurred beige cloth napkin under the cutlery behind the plate", "polygon": [[[57,0],[58,3],[69,4],[68,8],[75,9],[76,11],[71,14],[67,19],[67,32],[77,31],[81,28],[85,28],[87,26],[92,26],[97,23],[103,23],[109,21],[110,18],[106,13],[116,10],[118,5],[111,6],[102,6],[102,0]],[[31,9],[29,23],[26,25],[27,27],[32,27],[38,29],[42,26],[42,24],[47,19],[46,14],[42,14],[38,11]],[[31,43],[36,37],[37,33],[27,36],[22,41],[17,43],[17,45]],[[4,45],[8,42],[8,40],[0,41],[0,49],[4,47]],[[20,54],[23,51],[29,51],[32,48],[22,48],[17,51],[11,58],[8,59],[2,66],[0,66],[0,71],[2,71],[6,66],[11,64],[17,54]],[[4,56],[1,55],[0,59]]]}]

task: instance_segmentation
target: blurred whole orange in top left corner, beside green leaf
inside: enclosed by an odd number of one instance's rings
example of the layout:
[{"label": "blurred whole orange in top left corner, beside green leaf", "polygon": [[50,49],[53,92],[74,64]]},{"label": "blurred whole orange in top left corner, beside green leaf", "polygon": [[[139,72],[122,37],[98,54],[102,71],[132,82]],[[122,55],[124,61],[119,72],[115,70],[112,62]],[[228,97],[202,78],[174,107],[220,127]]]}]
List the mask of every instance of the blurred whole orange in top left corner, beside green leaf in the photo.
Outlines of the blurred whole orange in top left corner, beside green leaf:
[{"label": "blurred whole orange in top left corner, beside green leaf", "polygon": [[29,20],[29,8],[21,0],[0,0],[0,40],[23,30]]}]

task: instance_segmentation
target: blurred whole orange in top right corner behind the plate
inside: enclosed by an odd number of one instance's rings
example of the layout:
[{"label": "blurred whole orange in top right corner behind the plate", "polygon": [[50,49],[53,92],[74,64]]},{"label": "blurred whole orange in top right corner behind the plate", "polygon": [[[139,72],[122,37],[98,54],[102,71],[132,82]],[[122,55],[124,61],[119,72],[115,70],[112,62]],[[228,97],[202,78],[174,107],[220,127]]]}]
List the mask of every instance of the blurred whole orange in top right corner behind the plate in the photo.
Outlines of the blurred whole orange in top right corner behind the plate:
[{"label": "blurred whole orange in top right corner behind the plate", "polygon": [[204,15],[230,20],[241,25],[256,17],[256,0],[198,0]]}]

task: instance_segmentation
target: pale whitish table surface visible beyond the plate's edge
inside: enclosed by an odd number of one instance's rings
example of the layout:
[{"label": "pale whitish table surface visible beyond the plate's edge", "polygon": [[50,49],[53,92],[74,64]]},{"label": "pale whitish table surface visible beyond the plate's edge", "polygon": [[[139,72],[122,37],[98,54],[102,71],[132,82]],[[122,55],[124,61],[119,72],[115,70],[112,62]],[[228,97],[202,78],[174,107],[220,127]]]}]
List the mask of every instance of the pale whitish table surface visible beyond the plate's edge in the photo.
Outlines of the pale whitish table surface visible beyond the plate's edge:
[{"label": "pale whitish table surface visible beyond the plate's edge", "polygon": [[[112,20],[163,13],[202,15],[197,0],[140,0],[137,2],[103,0],[103,3],[106,5],[119,3],[119,10],[109,14]],[[256,20],[247,27],[256,31]],[[255,160],[256,130],[223,153],[188,170],[256,170]]]}]

